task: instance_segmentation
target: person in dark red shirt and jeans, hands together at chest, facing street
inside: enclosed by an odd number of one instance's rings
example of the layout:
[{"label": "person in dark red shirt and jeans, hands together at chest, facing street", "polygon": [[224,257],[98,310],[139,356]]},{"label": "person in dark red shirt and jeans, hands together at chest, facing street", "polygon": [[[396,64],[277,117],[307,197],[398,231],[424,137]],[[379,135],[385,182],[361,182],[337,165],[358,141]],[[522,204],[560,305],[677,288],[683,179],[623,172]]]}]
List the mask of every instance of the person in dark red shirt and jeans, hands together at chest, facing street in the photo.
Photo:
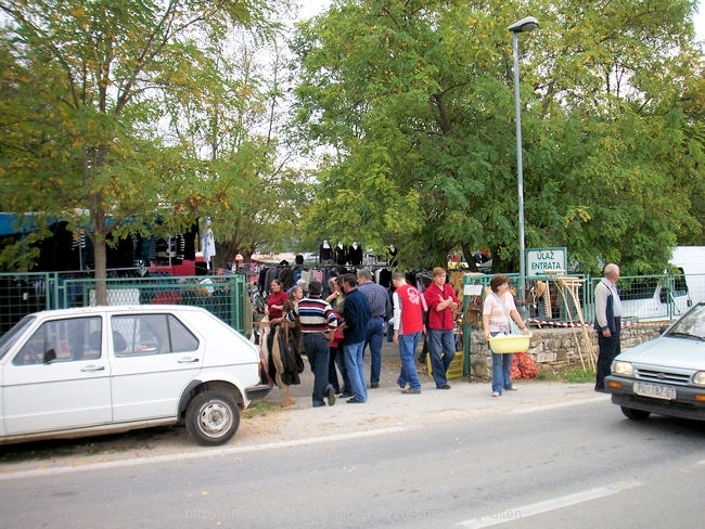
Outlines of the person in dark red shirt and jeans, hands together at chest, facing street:
[{"label": "person in dark red shirt and jeans, hands together at chest, facing street", "polygon": [[433,269],[433,283],[423,292],[428,307],[426,324],[426,340],[431,354],[433,379],[438,389],[450,389],[448,384],[448,367],[456,358],[456,317],[460,301],[453,287],[446,283],[446,270],[440,267]]}]

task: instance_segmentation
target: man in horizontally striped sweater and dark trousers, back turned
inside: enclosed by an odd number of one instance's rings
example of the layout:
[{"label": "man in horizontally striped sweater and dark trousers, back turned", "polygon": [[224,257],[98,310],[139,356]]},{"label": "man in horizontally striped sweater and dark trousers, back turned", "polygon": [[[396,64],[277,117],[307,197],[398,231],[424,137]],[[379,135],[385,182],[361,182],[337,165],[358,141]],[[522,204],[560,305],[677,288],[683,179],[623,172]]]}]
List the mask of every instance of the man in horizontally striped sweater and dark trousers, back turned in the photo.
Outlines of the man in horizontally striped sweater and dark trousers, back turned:
[{"label": "man in horizontally striped sweater and dark trousers, back turned", "polygon": [[302,325],[304,350],[313,372],[313,408],[325,405],[324,397],[328,398],[329,405],[335,404],[335,390],[328,379],[328,364],[337,317],[331,305],[321,299],[322,291],[323,285],[319,281],[311,281],[308,284],[308,297],[302,299],[285,317],[291,323],[298,318]]}]

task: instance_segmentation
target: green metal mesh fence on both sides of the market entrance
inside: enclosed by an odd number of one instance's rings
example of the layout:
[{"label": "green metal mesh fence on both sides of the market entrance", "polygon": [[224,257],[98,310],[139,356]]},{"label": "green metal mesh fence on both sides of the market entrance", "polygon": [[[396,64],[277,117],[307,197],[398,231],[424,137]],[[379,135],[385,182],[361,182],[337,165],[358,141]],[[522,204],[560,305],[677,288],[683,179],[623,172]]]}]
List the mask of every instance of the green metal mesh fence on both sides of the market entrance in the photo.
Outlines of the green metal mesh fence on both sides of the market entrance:
[{"label": "green metal mesh fence on both sides of the market entrance", "polygon": [[[518,274],[507,274],[516,291]],[[464,285],[486,287],[489,274],[469,274]],[[594,319],[594,287],[601,278],[577,276],[579,300],[586,324]],[[233,328],[249,334],[253,294],[243,274],[175,278],[167,274],[104,280],[110,305],[181,304],[203,307]],[[617,283],[623,319],[633,322],[669,321],[689,307],[705,300],[705,274],[621,276]],[[572,296],[550,278],[527,279],[520,311],[541,323],[578,322]],[[256,300],[257,301],[257,300]],[[0,334],[23,315],[38,310],[85,307],[95,302],[95,280],[89,273],[0,274]]]}]

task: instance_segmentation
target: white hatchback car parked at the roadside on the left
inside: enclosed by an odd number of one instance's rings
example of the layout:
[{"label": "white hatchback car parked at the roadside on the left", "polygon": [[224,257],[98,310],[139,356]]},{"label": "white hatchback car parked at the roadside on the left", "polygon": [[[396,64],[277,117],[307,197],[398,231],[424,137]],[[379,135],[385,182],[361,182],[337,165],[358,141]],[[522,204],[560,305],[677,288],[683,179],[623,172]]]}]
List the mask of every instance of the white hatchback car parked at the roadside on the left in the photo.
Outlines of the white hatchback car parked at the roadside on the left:
[{"label": "white hatchback car parked at the roadside on the left", "polygon": [[36,312],[0,338],[0,444],[180,422],[220,444],[268,392],[257,347],[197,307]]}]

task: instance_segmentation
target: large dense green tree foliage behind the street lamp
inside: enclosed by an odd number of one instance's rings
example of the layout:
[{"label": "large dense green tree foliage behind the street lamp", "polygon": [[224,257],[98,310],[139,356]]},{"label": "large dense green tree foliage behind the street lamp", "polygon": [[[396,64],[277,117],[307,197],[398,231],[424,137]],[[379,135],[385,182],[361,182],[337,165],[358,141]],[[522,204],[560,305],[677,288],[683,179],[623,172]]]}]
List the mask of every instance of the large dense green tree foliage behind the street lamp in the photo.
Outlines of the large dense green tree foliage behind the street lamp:
[{"label": "large dense green tree foliage behind the street lamp", "polygon": [[308,230],[393,242],[415,267],[490,248],[496,269],[516,270],[507,27],[535,12],[540,30],[521,36],[527,247],[568,246],[586,272],[600,258],[663,269],[677,234],[701,227],[684,199],[703,181],[702,117],[687,109],[703,78],[692,10],[335,2],[292,42],[298,133],[330,153]]}]

